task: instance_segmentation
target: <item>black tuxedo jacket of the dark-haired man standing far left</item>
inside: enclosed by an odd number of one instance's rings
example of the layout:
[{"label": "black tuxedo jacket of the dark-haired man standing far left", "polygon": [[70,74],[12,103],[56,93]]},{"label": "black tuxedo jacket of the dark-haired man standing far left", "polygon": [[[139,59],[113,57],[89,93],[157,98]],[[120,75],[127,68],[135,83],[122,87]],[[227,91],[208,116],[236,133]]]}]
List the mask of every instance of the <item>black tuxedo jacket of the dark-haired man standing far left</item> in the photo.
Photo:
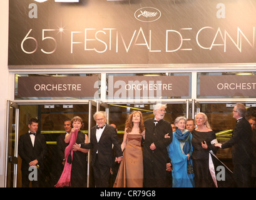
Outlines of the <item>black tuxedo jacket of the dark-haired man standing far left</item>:
[{"label": "black tuxedo jacket of the dark-haired man standing far left", "polygon": [[38,160],[39,169],[44,168],[44,158],[47,153],[47,146],[45,138],[42,134],[36,133],[34,139],[34,147],[31,142],[29,133],[25,133],[19,137],[18,154],[21,156],[22,164],[21,170],[26,171],[29,169],[29,163],[34,159]]}]

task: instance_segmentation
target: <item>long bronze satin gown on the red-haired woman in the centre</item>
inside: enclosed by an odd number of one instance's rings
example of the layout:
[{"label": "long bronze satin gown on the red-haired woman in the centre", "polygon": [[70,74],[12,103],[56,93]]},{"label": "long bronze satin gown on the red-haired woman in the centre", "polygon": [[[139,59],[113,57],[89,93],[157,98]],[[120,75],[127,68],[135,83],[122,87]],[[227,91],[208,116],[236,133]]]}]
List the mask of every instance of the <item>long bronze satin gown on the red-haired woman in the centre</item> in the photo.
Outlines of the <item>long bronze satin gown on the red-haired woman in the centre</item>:
[{"label": "long bronze satin gown on the red-haired woman in the centre", "polygon": [[123,161],[120,163],[113,187],[143,187],[141,138],[141,134],[127,134]]}]

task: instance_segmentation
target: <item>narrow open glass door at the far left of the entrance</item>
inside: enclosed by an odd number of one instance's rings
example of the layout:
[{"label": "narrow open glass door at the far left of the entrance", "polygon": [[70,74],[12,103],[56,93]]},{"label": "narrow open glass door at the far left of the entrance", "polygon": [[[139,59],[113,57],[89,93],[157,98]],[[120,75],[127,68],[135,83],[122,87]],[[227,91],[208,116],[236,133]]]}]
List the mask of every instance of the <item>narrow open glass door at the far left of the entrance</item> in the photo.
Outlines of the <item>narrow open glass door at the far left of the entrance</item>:
[{"label": "narrow open glass door at the far left of the entrance", "polygon": [[5,187],[17,187],[19,107],[7,101],[6,181]]}]

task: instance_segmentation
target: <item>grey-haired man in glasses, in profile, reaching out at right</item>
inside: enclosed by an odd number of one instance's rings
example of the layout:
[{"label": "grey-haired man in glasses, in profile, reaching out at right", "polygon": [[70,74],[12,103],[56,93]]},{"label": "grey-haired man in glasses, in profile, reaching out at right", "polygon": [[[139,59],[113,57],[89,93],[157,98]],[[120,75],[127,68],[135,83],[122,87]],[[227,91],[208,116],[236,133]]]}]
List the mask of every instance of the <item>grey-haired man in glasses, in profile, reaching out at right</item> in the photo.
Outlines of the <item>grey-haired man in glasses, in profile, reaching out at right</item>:
[{"label": "grey-haired man in glasses, in profile, reaching out at right", "polygon": [[243,104],[235,104],[232,112],[233,118],[237,119],[232,138],[227,143],[217,143],[215,146],[222,149],[232,147],[233,176],[237,187],[250,187],[253,160],[252,128],[245,119],[246,108]]}]

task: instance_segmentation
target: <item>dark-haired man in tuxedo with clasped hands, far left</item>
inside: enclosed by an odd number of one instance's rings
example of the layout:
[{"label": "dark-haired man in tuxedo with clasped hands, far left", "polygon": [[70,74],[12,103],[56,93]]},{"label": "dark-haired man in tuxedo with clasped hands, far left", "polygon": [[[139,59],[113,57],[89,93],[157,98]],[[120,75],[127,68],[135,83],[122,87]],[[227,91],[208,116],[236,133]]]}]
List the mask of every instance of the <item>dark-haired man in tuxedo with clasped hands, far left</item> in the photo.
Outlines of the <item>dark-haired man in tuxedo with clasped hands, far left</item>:
[{"label": "dark-haired man in tuxedo with clasped hands, far left", "polygon": [[38,124],[38,119],[31,118],[28,123],[28,133],[19,137],[18,153],[22,159],[22,187],[29,187],[30,181],[33,187],[39,187],[41,173],[44,169],[43,161],[47,146],[44,136],[36,133]]}]

